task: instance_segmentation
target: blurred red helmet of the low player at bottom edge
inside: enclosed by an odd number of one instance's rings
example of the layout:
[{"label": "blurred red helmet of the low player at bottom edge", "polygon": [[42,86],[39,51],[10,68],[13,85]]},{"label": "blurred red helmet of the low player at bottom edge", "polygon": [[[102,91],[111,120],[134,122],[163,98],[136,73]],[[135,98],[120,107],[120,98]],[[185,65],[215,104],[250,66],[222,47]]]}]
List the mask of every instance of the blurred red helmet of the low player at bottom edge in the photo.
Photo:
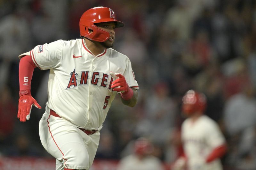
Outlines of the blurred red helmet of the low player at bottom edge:
[{"label": "blurred red helmet of the low player at bottom edge", "polygon": [[140,137],[135,141],[134,150],[139,155],[150,154],[153,152],[153,145],[145,137]]}]

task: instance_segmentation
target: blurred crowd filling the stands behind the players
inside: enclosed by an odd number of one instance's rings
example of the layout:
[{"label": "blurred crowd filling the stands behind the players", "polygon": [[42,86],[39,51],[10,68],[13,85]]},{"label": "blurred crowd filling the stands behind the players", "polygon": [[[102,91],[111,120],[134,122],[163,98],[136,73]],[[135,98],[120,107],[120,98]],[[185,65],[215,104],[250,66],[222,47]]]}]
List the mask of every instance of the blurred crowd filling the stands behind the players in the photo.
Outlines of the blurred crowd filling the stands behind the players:
[{"label": "blurred crowd filling the stands behind the players", "polygon": [[36,45],[80,38],[79,19],[107,6],[125,23],[113,46],[127,55],[139,84],[137,106],[114,100],[101,130],[96,159],[120,160],[139,137],[151,154],[172,164],[180,154],[182,96],[207,97],[206,115],[228,142],[225,169],[256,169],[256,2],[254,0],[1,0],[0,154],[51,157],[42,147],[38,122],[47,101],[49,70],[35,69],[30,120],[16,118],[18,55]]}]

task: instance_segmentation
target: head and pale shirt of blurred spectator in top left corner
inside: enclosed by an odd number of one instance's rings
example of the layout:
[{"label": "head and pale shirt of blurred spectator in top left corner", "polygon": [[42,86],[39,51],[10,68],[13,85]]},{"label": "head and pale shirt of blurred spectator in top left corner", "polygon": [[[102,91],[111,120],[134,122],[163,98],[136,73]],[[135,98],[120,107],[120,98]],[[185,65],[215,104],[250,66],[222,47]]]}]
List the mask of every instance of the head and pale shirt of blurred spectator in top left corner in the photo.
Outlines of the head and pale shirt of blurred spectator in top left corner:
[{"label": "head and pale shirt of blurred spectator in top left corner", "polygon": [[1,59],[18,61],[17,54],[28,50],[31,43],[28,21],[26,20],[27,6],[15,4],[13,13],[0,20],[0,53]]}]

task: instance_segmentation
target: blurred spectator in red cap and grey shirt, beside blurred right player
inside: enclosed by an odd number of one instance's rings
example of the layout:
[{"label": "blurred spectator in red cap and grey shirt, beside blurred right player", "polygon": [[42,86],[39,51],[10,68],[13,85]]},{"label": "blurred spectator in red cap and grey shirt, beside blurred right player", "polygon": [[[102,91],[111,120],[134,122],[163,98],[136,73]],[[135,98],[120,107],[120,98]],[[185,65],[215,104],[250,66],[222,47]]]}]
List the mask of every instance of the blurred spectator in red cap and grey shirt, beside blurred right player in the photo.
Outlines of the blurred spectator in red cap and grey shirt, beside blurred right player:
[{"label": "blurred spectator in red cap and grey shirt, beside blurred right player", "polygon": [[[177,106],[169,97],[169,87],[165,82],[157,83],[146,98],[146,120],[148,129],[145,136],[149,137],[154,144],[163,146],[166,143],[169,130],[175,127]],[[145,124],[144,124],[145,125]],[[143,123],[140,124],[143,126]]]}]

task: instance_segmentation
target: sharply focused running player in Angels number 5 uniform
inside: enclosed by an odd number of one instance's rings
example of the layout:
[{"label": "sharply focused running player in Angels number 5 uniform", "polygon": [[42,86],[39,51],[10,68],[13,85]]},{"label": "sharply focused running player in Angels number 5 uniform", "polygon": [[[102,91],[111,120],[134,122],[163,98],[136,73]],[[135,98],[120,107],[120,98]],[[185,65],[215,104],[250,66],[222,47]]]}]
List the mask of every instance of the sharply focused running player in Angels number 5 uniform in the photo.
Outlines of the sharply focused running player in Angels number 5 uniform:
[{"label": "sharply focused running player in Angels number 5 uniform", "polygon": [[100,129],[117,92],[134,107],[139,88],[129,58],[114,49],[115,28],[124,23],[107,7],[84,12],[79,22],[82,39],[38,45],[19,56],[20,99],[18,118],[29,120],[34,68],[50,69],[48,101],[39,122],[42,145],[56,158],[56,169],[92,166]]}]

